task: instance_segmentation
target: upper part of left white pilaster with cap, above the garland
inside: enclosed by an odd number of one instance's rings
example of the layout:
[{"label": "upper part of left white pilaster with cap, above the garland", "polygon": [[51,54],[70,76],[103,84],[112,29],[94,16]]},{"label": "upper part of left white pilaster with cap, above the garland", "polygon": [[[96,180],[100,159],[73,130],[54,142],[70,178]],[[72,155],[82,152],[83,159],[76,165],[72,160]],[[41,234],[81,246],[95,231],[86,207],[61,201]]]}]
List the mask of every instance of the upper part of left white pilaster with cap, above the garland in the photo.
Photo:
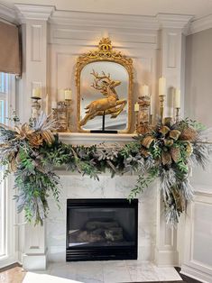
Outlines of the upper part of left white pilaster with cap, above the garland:
[{"label": "upper part of left white pilaster with cap, above the garland", "polygon": [[31,116],[32,88],[41,88],[41,106],[45,107],[47,92],[48,19],[53,6],[15,5],[23,32],[23,77],[19,88],[19,116],[23,122]]}]

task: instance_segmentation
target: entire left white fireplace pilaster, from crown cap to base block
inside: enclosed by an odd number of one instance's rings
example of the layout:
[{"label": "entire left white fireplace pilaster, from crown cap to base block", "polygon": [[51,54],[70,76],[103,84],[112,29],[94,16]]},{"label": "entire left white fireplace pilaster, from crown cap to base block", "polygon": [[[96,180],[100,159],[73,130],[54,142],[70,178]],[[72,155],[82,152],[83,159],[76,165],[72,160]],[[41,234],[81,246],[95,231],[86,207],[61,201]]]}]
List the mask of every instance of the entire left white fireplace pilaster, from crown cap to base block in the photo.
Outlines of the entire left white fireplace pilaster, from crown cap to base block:
[{"label": "entire left white fireplace pilaster, from crown cap to base block", "polygon": [[[19,81],[18,114],[22,122],[31,116],[32,89],[41,89],[42,109],[47,90],[48,19],[54,7],[15,5],[22,21],[23,77]],[[24,226],[23,269],[46,269],[45,224]]]}]

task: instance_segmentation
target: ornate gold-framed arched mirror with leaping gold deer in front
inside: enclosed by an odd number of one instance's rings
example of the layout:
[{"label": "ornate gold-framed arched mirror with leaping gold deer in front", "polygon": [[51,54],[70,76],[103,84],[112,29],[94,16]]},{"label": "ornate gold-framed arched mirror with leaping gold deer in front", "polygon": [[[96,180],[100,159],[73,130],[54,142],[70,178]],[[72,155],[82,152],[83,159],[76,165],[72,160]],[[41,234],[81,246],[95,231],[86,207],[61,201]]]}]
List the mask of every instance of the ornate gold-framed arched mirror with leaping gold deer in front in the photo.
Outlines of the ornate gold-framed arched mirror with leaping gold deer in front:
[{"label": "ornate gold-framed arched mirror with leaping gold deer in front", "polygon": [[113,50],[109,38],[78,57],[76,66],[79,132],[129,132],[133,60]]}]

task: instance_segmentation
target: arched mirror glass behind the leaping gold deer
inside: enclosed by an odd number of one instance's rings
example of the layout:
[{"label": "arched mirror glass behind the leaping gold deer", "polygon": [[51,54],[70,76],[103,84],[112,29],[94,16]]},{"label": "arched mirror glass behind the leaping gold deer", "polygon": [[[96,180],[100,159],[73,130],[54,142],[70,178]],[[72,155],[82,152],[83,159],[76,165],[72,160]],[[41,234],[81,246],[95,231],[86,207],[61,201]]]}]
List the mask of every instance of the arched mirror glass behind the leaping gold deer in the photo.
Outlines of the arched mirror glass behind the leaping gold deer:
[{"label": "arched mirror glass behind the leaping gold deer", "polygon": [[[102,91],[102,89],[105,89],[106,92]],[[107,113],[105,111],[105,129],[109,131],[123,131],[127,129],[129,123],[128,89],[129,74],[127,69],[121,64],[103,60],[88,63],[82,68],[80,72],[79,120],[81,122],[86,117],[86,121],[84,120],[86,123],[80,125],[81,129],[84,131],[102,130],[103,116],[101,115],[102,112],[98,112],[97,114],[97,109],[103,109],[104,104],[110,103],[112,105],[110,111]],[[115,103],[116,109],[113,105],[115,94],[117,95]],[[100,101],[99,99],[105,100]],[[93,103],[94,101],[96,102]],[[99,105],[103,106],[100,107]],[[96,112],[97,114],[94,117],[87,116],[91,107],[95,108],[94,113]],[[120,112],[118,114],[117,109]]]}]

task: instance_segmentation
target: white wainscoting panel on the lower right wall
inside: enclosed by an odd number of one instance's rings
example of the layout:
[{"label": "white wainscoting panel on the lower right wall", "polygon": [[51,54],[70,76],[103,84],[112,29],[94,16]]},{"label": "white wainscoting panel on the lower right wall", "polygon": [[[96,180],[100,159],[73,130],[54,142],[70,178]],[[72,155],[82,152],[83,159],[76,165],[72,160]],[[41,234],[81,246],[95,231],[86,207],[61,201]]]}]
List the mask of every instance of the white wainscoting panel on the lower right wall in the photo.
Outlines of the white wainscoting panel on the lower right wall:
[{"label": "white wainscoting panel on the lower right wall", "polygon": [[181,273],[212,282],[212,187],[198,186],[188,206]]}]

